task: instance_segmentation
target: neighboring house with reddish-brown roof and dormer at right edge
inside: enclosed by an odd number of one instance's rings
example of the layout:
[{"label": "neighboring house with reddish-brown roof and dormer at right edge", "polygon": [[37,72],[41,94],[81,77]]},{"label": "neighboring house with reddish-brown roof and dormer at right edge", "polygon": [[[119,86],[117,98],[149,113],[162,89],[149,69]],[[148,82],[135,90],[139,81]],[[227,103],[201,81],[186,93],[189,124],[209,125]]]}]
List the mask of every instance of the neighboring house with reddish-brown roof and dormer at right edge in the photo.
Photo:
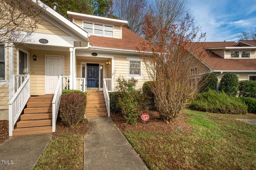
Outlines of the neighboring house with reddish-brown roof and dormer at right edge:
[{"label": "neighboring house with reddish-brown roof and dormer at right edge", "polygon": [[208,68],[206,72],[216,73],[219,81],[227,72],[236,74],[239,80],[256,80],[255,40],[205,42],[199,46],[198,52],[203,50],[201,61]]}]

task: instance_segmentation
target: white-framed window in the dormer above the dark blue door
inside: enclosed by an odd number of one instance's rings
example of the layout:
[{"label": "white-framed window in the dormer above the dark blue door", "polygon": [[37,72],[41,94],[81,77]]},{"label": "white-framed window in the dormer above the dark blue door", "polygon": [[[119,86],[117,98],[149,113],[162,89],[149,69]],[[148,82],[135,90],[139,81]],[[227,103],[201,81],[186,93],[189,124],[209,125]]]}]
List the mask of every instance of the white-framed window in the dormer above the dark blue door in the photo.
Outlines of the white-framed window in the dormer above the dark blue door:
[{"label": "white-framed window in the dormer above the dark blue door", "polygon": [[114,28],[111,25],[84,22],[84,30],[90,35],[113,37]]}]

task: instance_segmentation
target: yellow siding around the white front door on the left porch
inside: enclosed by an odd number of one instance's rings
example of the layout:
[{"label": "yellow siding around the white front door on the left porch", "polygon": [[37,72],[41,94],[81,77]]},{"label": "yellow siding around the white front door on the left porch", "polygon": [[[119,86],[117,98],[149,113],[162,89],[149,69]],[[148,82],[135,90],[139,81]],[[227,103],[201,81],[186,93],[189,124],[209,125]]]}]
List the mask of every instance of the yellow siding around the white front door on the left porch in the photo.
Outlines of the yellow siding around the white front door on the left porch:
[{"label": "yellow siding around the white front door on the left porch", "polygon": [[[45,94],[45,55],[64,56],[64,75],[69,75],[69,52],[57,52],[50,50],[31,50],[29,57],[30,62],[30,93],[31,95]],[[36,61],[33,55],[36,55]]]}]

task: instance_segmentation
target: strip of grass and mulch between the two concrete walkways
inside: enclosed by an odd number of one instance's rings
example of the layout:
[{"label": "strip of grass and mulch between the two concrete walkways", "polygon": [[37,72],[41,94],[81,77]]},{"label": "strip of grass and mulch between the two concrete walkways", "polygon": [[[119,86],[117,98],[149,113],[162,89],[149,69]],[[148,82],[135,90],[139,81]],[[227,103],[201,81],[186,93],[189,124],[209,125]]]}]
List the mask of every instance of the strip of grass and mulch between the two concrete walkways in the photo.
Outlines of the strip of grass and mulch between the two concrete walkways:
[{"label": "strip of grass and mulch between the two concrete walkways", "polygon": [[88,122],[67,128],[58,123],[56,132],[35,169],[84,169],[84,134]]}]

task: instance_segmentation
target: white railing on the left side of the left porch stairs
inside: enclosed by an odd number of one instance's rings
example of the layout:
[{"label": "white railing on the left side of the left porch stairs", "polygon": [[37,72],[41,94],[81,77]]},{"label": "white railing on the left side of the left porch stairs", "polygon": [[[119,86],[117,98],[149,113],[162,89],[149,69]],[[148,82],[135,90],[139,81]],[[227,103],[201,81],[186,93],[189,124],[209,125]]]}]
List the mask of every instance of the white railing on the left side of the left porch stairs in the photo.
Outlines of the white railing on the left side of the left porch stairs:
[{"label": "white railing on the left side of the left porch stairs", "polygon": [[[18,77],[15,75],[14,77]],[[21,80],[21,79],[20,79]],[[30,97],[30,76],[26,75],[25,80],[20,81],[21,84],[14,96],[9,101],[9,135],[12,136],[14,125],[18,121],[23,108]]]}]

